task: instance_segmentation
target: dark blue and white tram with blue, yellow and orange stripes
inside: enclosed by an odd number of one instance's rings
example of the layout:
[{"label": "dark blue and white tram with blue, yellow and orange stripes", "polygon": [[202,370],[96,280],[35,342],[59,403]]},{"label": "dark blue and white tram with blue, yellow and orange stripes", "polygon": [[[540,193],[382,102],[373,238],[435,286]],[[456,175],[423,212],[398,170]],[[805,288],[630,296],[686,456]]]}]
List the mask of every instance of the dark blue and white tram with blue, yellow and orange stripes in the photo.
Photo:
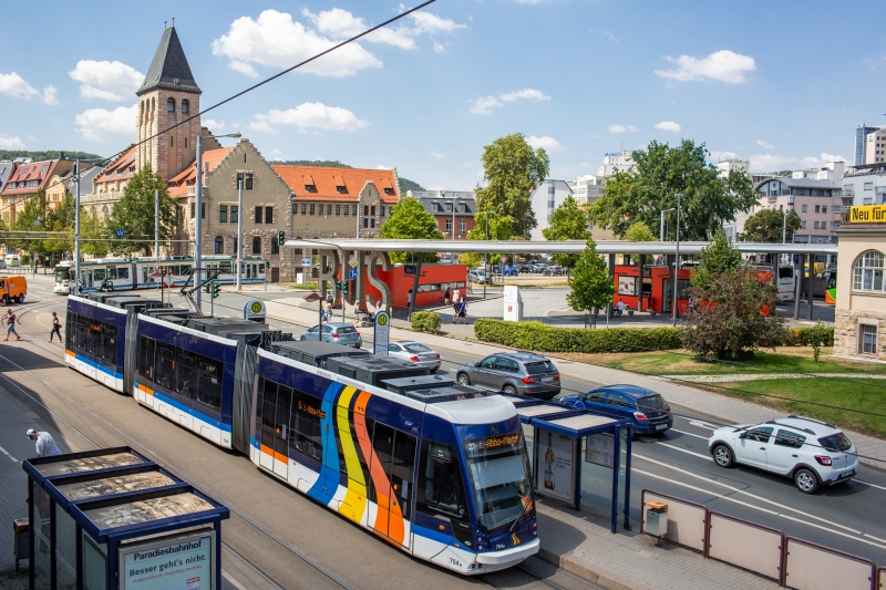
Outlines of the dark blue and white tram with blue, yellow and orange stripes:
[{"label": "dark blue and white tram with blue, yellow and orange stripes", "polygon": [[337,344],[256,348],[268,328],[243,323],[72,296],[65,359],[418,558],[475,575],[538,551],[509,401]]}]

